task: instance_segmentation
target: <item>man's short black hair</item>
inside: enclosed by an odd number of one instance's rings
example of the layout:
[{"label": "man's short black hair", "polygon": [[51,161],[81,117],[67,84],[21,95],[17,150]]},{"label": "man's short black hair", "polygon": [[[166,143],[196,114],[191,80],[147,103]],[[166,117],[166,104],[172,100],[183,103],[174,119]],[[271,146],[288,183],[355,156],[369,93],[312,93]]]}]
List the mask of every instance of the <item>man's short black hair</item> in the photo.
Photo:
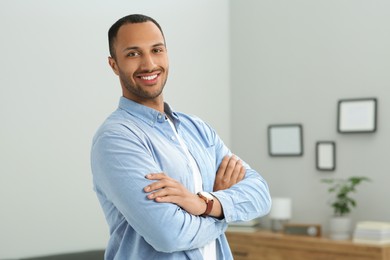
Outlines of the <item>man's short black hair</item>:
[{"label": "man's short black hair", "polygon": [[158,29],[160,30],[165,43],[165,37],[164,33],[161,29],[161,26],[158,24],[156,20],[154,20],[152,17],[143,15],[143,14],[130,14],[127,16],[124,16],[120,18],[118,21],[116,21],[108,30],[108,46],[110,49],[110,55],[115,59],[115,40],[118,34],[119,29],[122,27],[122,25],[128,24],[128,23],[145,23],[145,22],[152,22],[154,23]]}]

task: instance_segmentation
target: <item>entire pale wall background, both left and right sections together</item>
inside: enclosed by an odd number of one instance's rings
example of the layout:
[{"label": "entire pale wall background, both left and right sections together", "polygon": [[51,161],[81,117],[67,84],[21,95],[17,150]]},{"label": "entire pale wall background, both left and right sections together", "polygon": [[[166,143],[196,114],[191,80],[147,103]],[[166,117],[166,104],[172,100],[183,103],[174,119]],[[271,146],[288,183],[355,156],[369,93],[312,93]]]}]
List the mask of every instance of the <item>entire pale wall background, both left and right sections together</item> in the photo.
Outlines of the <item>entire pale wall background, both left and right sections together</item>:
[{"label": "entire pale wall background, both left and right sections together", "polygon": [[[350,175],[373,179],[359,188],[354,219],[389,221],[389,5],[230,1],[229,16],[223,0],[0,1],[0,258],[105,246],[89,147],[120,96],[106,32],[133,12],[165,30],[166,99],[213,125],[274,196],[292,197],[293,221],[326,225],[319,180]],[[379,100],[377,133],[338,134],[337,101],[366,96]],[[303,124],[303,157],[268,156],[271,123]],[[333,173],[315,169],[318,140],[337,143]]]}]

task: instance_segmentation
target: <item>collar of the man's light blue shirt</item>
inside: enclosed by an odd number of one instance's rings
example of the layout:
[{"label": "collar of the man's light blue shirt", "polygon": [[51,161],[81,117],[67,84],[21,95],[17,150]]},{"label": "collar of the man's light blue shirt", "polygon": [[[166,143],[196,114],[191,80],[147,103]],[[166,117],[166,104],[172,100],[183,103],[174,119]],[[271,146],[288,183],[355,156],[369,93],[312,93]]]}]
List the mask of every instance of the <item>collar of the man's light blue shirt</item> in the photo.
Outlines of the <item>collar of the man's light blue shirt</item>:
[{"label": "collar of the man's light blue shirt", "polygon": [[121,97],[119,100],[119,108],[125,110],[127,113],[138,117],[150,126],[154,126],[156,123],[163,123],[166,120],[166,115],[172,119],[174,125],[178,127],[180,120],[177,113],[173,112],[168,103],[164,102],[164,113],[157,111],[153,108],[141,105],[125,97]]}]

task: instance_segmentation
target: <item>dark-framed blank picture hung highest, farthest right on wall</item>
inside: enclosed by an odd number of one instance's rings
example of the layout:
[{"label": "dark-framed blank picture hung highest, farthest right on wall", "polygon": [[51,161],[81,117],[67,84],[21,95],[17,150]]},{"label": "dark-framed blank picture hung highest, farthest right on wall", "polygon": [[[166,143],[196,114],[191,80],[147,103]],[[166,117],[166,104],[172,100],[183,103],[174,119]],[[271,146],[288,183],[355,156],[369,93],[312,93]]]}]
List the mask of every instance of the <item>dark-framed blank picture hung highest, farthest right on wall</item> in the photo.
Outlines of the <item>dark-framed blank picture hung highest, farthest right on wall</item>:
[{"label": "dark-framed blank picture hung highest, farthest right on wall", "polygon": [[376,131],[376,98],[342,99],[338,102],[339,133],[370,133]]}]

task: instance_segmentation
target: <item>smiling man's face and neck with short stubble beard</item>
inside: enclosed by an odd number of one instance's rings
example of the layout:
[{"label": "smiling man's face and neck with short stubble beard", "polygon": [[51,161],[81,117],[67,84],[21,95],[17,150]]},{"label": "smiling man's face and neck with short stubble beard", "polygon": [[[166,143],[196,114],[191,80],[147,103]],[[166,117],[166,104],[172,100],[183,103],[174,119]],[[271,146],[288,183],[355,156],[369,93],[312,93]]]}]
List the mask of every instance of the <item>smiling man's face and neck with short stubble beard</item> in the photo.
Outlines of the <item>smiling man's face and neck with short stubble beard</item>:
[{"label": "smiling man's face and neck with short stubble beard", "polygon": [[168,77],[164,37],[152,22],[125,24],[114,44],[116,58],[109,63],[121,81],[123,96],[148,105],[162,101]]}]

